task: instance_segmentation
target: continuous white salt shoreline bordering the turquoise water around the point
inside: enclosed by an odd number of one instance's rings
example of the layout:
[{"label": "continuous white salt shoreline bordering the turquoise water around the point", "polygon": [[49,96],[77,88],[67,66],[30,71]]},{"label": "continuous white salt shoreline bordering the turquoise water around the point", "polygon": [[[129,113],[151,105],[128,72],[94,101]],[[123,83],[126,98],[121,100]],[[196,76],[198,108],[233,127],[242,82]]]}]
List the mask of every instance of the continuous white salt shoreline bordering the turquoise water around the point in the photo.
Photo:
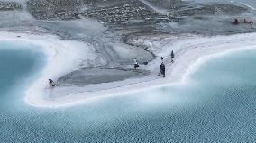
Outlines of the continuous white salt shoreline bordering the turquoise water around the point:
[{"label": "continuous white salt shoreline bordering the turquoise water around the point", "polygon": [[[21,38],[17,38],[17,35],[21,35]],[[32,38],[32,40],[30,38]],[[73,106],[96,99],[131,94],[148,89],[160,88],[162,86],[184,85],[188,83],[187,81],[189,81],[189,75],[198,70],[200,65],[206,62],[206,60],[209,60],[210,58],[224,56],[224,54],[237,51],[238,49],[254,49],[253,41],[256,41],[256,33],[177,40],[169,44],[169,46],[178,46],[180,47],[180,49],[176,51],[177,57],[174,59],[175,62],[173,64],[171,64],[169,57],[165,60],[165,64],[167,67],[166,78],[160,78],[156,76],[156,74],[159,72],[160,62],[160,60],[156,58],[149,64],[149,67],[151,68],[150,76],[145,76],[141,78],[128,78],[123,81],[103,83],[97,85],[87,85],[85,87],[79,88],[59,87],[58,90],[54,89],[55,97],[50,97],[50,94],[52,93],[47,90],[46,86],[48,86],[48,84],[44,82],[45,80],[48,80],[50,78],[47,76],[58,78],[61,75],[68,74],[69,72],[78,69],[79,67],[77,65],[79,63],[79,60],[81,58],[84,58],[84,55],[81,54],[83,53],[81,52],[81,50],[86,50],[85,46],[87,46],[87,44],[78,41],[59,40],[55,36],[50,36],[50,38],[51,40],[47,39],[47,35],[34,36],[20,33],[5,33],[5,36],[2,34],[0,35],[0,40],[16,41],[14,39],[18,39],[20,41],[34,43],[35,45],[41,45],[42,48],[45,49],[46,54],[48,55],[48,62],[43,68],[40,74],[41,76],[25,92],[25,102],[34,107],[54,108]],[[51,43],[47,43],[47,41],[51,41]],[[69,55],[69,50],[75,51],[74,43],[76,43],[76,46],[78,46],[78,52],[74,52],[74,57],[72,57],[71,55]],[[61,48],[60,45],[65,48],[66,52],[64,52],[64,50],[61,50],[64,48]],[[157,55],[169,55],[168,53],[170,52],[171,50],[165,49],[161,51],[161,53],[157,53]],[[67,54],[70,56],[69,58],[66,57]],[[93,53],[91,53],[91,58],[95,58]],[[60,64],[59,68],[57,67],[59,71],[56,70],[50,75],[45,74],[47,72],[50,72],[50,70],[56,66],[56,63],[50,63],[50,61],[53,60],[56,62],[56,59],[58,59],[57,64]],[[61,63],[65,63],[65,60],[71,61],[68,64],[69,67],[67,67],[67,64],[61,65]],[[72,91],[72,93],[65,93],[65,91]],[[59,97],[60,95],[61,97]]]}]

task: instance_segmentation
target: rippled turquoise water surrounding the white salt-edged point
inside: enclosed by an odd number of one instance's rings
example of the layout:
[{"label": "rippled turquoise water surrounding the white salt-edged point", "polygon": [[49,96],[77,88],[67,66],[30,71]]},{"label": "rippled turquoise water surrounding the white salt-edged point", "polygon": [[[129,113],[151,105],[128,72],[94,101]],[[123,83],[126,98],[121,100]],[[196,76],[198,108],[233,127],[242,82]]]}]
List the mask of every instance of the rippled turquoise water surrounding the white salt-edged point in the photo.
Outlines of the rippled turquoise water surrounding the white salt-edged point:
[{"label": "rippled turquoise water surrounding the white salt-edged point", "polygon": [[31,50],[0,50],[0,142],[256,140],[256,50],[207,61],[187,85],[59,109],[23,102],[23,82],[36,76],[42,58]]}]

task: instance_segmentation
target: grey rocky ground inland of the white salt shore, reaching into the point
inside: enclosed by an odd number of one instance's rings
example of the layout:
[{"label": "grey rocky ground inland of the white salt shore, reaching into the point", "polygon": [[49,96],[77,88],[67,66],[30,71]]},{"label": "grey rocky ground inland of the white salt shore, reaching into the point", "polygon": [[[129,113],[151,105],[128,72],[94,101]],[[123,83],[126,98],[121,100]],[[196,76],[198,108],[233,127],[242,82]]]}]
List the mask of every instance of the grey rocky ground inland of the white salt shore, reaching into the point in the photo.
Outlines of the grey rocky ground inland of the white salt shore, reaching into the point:
[{"label": "grey rocky ground inland of the white salt shore, reaching into the point", "polygon": [[[145,3],[146,2],[146,3]],[[155,55],[133,43],[147,35],[223,35],[256,31],[255,25],[233,25],[234,18],[255,20],[249,7],[227,3],[154,0],[29,0],[0,2],[0,30],[50,33],[62,40],[87,42],[97,61],[59,78],[59,85],[89,85],[147,76],[133,70],[133,58],[149,62]],[[165,13],[161,13],[165,12]],[[167,14],[166,14],[167,13]],[[129,50],[129,54],[123,51]],[[82,80],[81,80],[82,79]]]}]

